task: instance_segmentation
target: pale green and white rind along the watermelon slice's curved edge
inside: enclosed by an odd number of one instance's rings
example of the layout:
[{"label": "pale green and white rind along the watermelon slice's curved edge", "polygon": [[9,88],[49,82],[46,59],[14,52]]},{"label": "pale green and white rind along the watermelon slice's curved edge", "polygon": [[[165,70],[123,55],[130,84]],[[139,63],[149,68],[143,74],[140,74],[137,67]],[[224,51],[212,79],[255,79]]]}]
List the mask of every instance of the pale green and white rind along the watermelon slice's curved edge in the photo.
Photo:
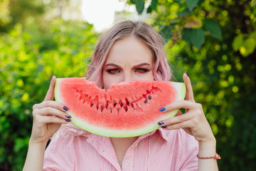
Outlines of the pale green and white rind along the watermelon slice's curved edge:
[{"label": "pale green and white rind along the watermelon slice's curved edge", "polygon": [[[58,78],[58,79],[61,79],[61,78]],[[59,86],[58,79],[55,82],[55,100],[60,103],[64,103],[62,98],[60,97],[60,92],[58,91],[60,90],[60,88],[58,88]],[[172,83],[172,85],[176,89],[176,94],[178,95],[176,100],[184,100],[186,95],[186,84],[176,83],[176,82],[170,82],[170,83]],[[90,123],[87,123],[86,120],[80,120],[80,118],[74,117],[74,114],[69,110],[66,113],[73,116],[73,118],[71,118],[71,123],[78,126],[78,128],[81,128],[82,130],[86,130],[89,133],[93,133],[93,134],[101,135],[105,137],[112,137],[112,138],[128,138],[128,137],[137,137],[140,135],[144,135],[146,133],[151,133],[152,131],[161,128],[161,126],[159,126],[157,123],[161,120],[173,118],[176,115],[176,113],[178,113],[178,110],[179,109],[172,110],[171,112],[165,112],[166,115],[163,115],[161,118],[159,117],[159,120],[154,120],[152,121],[152,123],[149,123],[146,127],[135,129],[135,130],[134,129],[116,130],[116,129],[100,127],[100,125],[91,125]]]}]

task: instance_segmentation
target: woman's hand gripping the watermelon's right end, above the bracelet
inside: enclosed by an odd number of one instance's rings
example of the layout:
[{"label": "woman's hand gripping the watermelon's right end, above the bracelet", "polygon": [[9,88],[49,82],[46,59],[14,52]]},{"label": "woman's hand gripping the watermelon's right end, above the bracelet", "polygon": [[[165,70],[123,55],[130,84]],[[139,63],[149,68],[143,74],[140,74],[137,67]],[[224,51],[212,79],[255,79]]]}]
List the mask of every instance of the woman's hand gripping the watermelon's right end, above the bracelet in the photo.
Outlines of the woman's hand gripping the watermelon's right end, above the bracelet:
[{"label": "woman's hand gripping the watermelon's right end, above the bracelet", "polygon": [[193,135],[198,142],[215,141],[213,131],[203,113],[202,105],[196,103],[193,98],[191,81],[186,73],[183,74],[183,80],[184,83],[186,83],[186,100],[179,100],[166,105],[166,109],[163,112],[185,108],[186,113],[183,114],[179,110],[174,118],[163,120],[162,122],[159,122],[159,125],[161,125],[161,127],[164,126],[164,129],[166,130],[183,128],[186,133]]}]

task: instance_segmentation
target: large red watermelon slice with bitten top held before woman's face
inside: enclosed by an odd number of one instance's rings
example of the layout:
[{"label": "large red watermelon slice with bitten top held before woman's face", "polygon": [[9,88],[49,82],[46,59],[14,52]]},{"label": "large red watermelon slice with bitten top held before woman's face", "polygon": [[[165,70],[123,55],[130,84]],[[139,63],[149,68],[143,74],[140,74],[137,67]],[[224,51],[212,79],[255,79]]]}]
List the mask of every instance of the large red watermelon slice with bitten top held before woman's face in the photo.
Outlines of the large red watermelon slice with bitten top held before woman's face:
[{"label": "large red watermelon slice with bitten top held before woman's face", "polygon": [[85,78],[57,78],[55,82],[55,100],[68,106],[71,123],[105,137],[135,137],[159,129],[159,121],[178,112],[159,109],[185,95],[185,83],[169,81],[119,83],[107,92]]}]

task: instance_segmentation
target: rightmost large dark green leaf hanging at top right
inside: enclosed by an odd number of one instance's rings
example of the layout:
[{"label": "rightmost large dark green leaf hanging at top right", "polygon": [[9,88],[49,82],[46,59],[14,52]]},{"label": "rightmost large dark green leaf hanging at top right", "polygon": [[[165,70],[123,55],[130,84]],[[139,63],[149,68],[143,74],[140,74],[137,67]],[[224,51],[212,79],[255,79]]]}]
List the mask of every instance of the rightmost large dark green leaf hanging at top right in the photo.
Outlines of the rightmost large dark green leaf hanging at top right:
[{"label": "rightmost large dark green leaf hanging at top right", "polygon": [[210,32],[210,35],[215,36],[218,39],[221,38],[220,25],[216,21],[213,19],[206,19],[203,26]]}]

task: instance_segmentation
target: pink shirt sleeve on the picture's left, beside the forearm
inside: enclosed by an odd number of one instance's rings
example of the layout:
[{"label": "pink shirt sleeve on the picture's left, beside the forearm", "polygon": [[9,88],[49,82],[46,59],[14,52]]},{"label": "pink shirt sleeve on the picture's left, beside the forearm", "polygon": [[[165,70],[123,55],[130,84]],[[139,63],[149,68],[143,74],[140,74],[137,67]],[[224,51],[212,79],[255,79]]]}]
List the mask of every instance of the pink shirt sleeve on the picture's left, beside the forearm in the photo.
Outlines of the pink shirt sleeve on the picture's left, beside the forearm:
[{"label": "pink shirt sleeve on the picture's left, beside the forearm", "polygon": [[75,170],[75,136],[69,135],[65,130],[55,133],[50,144],[46,148],[43,170]]}]

